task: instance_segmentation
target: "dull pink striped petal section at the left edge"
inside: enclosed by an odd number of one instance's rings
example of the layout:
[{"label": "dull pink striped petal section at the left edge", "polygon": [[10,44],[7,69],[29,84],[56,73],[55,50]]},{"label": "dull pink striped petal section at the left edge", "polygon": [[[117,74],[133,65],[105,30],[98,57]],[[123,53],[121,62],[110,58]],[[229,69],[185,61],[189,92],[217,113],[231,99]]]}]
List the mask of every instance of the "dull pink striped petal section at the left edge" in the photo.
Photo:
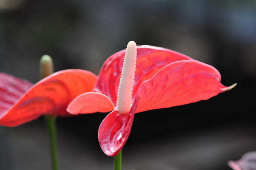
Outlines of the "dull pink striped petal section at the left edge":
[{"label": "dull pink striped petal section at the left edge", "polygon": [[0,73],[0,117],[25,94],[32,83],[10,74]]}]

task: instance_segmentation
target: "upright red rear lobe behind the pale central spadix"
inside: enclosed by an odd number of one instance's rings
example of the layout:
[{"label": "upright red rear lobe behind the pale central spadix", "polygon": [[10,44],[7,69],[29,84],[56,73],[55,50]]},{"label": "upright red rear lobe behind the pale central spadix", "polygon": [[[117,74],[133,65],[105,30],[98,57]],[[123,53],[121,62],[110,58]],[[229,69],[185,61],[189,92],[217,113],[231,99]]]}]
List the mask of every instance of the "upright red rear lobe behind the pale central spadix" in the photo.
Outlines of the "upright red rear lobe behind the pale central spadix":
[{"label": "upright red rear lobe behind the pale central spadix", "polygon": [[[108,96],[116,107],[119,80],[125,50],[109,57],[103,64],[93,91]],[[137,64],[134,79],[133,99],[141,83],[172,62],[191,59],[175,51],[150,45],[137,46]]]}]

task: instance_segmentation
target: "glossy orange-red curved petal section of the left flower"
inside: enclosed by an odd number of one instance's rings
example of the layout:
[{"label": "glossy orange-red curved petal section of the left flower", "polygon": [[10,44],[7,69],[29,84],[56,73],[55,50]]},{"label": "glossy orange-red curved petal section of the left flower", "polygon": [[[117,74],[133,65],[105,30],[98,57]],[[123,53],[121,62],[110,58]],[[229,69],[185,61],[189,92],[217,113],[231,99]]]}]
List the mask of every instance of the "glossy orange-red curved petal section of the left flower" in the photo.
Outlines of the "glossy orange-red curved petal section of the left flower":
[{"label": "glossy orange-red curved petal section of the left flower", "polygon": [[64,70],[42,79],[32,86],[0,118],[0,125],[17,126],[42,114],[70,116],[67,105],[76,96],[91,91],[96,76],[84,70]]}]

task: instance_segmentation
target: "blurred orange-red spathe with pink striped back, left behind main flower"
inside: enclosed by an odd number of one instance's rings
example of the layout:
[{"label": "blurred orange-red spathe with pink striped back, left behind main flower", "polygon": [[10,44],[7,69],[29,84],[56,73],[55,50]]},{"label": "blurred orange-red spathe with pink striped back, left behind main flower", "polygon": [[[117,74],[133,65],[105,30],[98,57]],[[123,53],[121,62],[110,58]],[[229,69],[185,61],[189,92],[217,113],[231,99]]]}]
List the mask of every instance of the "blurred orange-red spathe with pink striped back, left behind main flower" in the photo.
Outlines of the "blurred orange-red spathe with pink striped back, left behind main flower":
[{"label": "blurred orange-red spathe with pink striped back, left behind main flower", "polygon": [[67,105],[91,91],[96,75],[84,70],[58,71],[32,86],[26,80],[0,73],[0,125],[17,126],[42,114],[70,116]]}]

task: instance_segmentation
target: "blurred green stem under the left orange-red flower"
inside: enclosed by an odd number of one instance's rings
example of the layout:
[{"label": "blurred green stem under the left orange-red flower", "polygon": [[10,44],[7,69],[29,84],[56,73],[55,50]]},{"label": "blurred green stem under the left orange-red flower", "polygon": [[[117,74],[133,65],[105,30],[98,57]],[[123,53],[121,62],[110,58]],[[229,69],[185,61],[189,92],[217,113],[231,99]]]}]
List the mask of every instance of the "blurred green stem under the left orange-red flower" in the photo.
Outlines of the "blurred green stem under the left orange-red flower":
[{"label": "blurred green stem under the left orange-red flower", "polygon": [[49,132],[52,156],[52,170],[58,170],[58,150],[57,150],[57,133],[56,133],[56,116],[44,115],[44,119]]}]

